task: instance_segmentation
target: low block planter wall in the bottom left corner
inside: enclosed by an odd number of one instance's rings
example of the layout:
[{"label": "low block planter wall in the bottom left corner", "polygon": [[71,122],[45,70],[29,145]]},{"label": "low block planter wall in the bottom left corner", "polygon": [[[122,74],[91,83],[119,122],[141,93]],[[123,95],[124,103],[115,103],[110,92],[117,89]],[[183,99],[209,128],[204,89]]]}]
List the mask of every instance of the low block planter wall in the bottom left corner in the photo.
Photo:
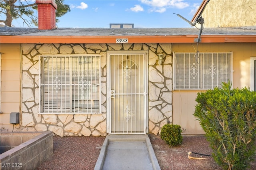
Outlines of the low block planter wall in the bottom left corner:
[{"label": "low block planter wall in the bottom left corner", "polygon": [[[12,149],[0,154],[1,170],[35,169],[53,154],[53,133],[50,131],[2,132],[1,146],[2,141],[9,143]],[[15,146],[19,142],[22,143]]]}]

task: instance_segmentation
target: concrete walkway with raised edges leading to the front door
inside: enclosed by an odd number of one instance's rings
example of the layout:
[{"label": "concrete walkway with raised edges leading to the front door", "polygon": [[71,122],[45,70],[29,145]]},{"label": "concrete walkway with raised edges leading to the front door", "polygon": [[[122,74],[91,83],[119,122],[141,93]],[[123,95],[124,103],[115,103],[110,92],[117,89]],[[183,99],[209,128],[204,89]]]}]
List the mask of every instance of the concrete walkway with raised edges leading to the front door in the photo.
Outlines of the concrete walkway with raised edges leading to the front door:
[{"label": "concrete walkway with raised edges leading to the front door", "polygon": [[108,135],[94,170],[160,170],[160,166],[148,135]]}]

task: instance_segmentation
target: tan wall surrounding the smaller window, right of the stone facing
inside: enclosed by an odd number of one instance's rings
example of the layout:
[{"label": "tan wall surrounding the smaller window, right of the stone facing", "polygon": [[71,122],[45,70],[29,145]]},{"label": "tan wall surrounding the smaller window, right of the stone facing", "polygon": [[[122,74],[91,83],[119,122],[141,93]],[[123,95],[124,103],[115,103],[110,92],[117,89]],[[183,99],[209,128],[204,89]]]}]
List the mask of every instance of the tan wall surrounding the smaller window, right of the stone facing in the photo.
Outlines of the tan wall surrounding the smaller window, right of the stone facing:
[{"label": "tan wall surrounding the smaller window, right of the stone facing", "polygon": [[[173,44],[174,52],[195,52],[194,43]],[[256,43],[200,43],[199,52],[233,52],[233,88],[250,87],[250,57],[256,56]],[[199,91],[173,91],[173,124],[181,125],[184,134],[203,134],[193,116]]]}]

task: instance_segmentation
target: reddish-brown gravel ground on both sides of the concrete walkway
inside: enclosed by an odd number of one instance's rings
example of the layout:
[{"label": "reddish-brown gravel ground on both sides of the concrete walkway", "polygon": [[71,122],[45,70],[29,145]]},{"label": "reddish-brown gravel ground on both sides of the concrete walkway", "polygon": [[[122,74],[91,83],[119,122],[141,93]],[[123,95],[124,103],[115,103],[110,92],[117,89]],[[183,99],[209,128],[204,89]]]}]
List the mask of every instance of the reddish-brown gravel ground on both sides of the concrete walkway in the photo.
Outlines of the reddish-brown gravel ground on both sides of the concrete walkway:
[{"label": "reddish-brown gravel ground on both sides of the concrete walkway", "polygon": [[[160,136],[149,134],[150,141],[161,170],[221,170],[210,156],[204,160],[189,159],[188,152],[210,155],[212,150],[204,136],[184,136],[180,146],[169,147]],[[37,170],[93,170],[105,137],[54,136],[52,158],[43,162]],[[190,154],[200,157],[198,154]],[[256,169],[256,161],[251,170]]]}]

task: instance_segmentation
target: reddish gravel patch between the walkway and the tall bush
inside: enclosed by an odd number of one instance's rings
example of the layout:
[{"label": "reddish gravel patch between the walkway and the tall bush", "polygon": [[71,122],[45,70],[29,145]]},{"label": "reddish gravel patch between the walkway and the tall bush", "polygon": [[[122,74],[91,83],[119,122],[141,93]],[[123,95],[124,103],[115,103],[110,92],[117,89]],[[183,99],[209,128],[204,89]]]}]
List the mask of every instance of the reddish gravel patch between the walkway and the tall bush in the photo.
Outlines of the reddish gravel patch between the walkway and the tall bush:
[{"label": "reddish gravel patch between the walkway and the tall bush", "polygon": [[204,160],[189,159],[188,152],[210,155],[212,150],[204,136],[184,136],[182,144],[170,147],[154,134],[149,134],[161,170],[221,170],[211,156],[190,154]]}]

